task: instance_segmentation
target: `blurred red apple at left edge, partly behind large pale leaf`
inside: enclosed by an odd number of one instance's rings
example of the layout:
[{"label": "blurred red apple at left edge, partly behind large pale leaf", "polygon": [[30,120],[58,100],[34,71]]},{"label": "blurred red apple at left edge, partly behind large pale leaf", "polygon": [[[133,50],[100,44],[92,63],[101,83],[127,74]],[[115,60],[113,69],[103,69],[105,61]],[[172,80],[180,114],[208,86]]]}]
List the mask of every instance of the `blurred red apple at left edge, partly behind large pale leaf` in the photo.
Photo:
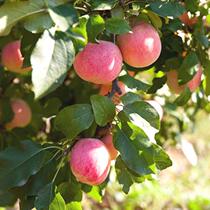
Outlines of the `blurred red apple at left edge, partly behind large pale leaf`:
[{"label": "blurred red apple at left edge, partly behind large pale leaf", "polygon": [[23,56],[20,51],[20,40],[13,41],[4,46],[1,52],[1,63],[7,70],[24,73],[31,70],[31,67],[22,68]]}]

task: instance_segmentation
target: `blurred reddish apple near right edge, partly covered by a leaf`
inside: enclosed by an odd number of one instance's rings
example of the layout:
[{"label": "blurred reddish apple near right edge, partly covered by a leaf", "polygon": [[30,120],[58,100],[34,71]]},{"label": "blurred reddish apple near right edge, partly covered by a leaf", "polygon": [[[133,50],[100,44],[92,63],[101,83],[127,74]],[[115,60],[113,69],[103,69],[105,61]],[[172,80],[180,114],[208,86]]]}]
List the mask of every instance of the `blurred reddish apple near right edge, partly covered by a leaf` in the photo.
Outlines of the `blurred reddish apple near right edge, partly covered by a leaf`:
[{"label": "blurred reddish apple near right edge, partly covered by a leaf", "polygon": [[176,94],[181,93],[186,87],[190,89],[191,92],[194,92],[197,87],[201,84],[201,77],[202,77],[202,67],[198,66],[198,71],[196,72],[195,76],[186,84],[179,85],[178,83],[178,73],[175,70],[169,71],[166,73],[167,75],[167,85],[168,87]]}]

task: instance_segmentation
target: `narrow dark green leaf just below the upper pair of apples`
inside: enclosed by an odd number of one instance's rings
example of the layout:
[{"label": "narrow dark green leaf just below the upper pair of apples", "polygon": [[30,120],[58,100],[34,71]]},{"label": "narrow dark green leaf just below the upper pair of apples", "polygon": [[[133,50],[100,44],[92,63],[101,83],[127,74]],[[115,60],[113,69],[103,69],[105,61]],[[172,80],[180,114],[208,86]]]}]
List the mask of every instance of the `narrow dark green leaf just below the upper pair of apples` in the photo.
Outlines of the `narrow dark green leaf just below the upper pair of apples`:
[{"label": "narrow dark green leaf just below the upper pair of apples", "polygon": [[126,86],[128,86],[131,89],[143,90],[146,92],[151,87],[150,85],[148,85],[140,80],[137,80],[128,74],[119,77],[119,80],[122,81],[123,83],[125,83]]}]

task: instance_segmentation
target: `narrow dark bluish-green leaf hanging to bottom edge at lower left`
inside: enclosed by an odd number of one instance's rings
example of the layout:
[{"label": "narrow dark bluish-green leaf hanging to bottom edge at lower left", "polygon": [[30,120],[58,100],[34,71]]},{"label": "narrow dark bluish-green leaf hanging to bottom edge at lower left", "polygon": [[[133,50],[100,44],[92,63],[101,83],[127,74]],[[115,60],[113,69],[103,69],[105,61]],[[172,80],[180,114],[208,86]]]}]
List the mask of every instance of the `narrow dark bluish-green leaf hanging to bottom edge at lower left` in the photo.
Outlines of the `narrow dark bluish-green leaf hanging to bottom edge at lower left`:
[{"label": "narrow dark bluish-green leaf hanging to bottom edge at lower left", "polygon": [[37,210],[48,209],[50,203],[53,201],[55,197],[54,188],[55,187],[53,183],[49,183],[45,185],[43,188],[41,188],[34,203]]}]

